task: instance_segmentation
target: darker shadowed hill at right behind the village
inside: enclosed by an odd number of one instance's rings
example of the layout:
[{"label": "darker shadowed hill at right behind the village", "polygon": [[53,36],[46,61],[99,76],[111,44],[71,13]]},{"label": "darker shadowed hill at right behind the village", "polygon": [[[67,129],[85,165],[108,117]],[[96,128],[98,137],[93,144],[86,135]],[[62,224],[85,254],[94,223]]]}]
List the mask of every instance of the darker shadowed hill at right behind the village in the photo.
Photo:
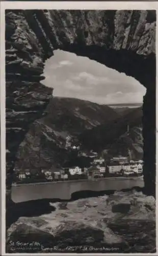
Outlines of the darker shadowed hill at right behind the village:
[{"label": "darker shadowed hill at right behind the village", "polygon": [[139,143],[143,151],[141,128],[142,108],[138,108],[85,131],[80,135],[80,139],[87,148],[100,151],[107,149],[111,151],[112,156],[123,156],[128,155],[127,150],[134,149]]}]

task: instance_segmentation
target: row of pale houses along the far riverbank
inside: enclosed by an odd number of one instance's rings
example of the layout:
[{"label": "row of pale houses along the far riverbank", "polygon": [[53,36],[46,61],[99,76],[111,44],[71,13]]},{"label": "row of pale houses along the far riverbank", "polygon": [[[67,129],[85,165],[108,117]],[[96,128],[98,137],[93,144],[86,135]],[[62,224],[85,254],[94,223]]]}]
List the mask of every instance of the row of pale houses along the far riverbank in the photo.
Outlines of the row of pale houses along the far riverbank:
[{"label": "row of pale houses along the far riverbank", "polygon": [[129,160],[127,157],[113,157],[107,162],[103,157],[93,154],[89,167],[70,166],[61,169],[41,169],[31,173],[30,170],[20,170],[15,174],[17,183],[65,181],[65,180],[94,180],[106,177],[142,176],[143,161]]}]

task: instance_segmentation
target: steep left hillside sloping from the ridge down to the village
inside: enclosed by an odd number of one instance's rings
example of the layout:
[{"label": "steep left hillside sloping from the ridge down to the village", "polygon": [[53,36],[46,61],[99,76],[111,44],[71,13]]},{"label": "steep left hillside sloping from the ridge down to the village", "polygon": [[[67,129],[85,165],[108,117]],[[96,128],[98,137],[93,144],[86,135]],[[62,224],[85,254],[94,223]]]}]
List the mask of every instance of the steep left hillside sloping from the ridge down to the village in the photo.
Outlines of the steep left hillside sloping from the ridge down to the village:
[{"label": "steep left hillside sloping from the ridge down to the village", "polygon": [[[73,98],[52,98],[46,108],[47,115],[31,125],[17,151],[15,170],[62,167],[75,158],[66,148],[66,138],[78,142],[78,135],[101,123],[109,123],[119,115],[106,105]],[[77,154],[77,153],[76,153]],[[77,160],[75,162],[77,164]],[[84,163],[83,163],[84,164]],[[33,170],[34,169],[34,170]]]}]

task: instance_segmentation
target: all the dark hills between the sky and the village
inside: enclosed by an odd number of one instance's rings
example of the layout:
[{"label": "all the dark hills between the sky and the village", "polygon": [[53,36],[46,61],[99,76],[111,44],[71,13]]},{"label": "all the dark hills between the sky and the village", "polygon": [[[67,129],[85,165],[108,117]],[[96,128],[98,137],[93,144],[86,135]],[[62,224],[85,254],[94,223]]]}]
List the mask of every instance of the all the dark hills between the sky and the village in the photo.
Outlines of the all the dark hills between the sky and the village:
[{"label": "all the dark hills between the sky and the village", "polygon": [[[72,150],[80,145],[80,152],[91,150],[110,156],[143,156],[142,108],[99,105],[75,98],[54,97],[46,109],[47,115],[35,121],[20,144],[18,169],[60,168],[65,165],[89,165],[88,157]],[[128,131],[127,131],[128,128]],[[66,147],[70,137],[71,146]],[[79,153],[80,153],[79,152]],[[106,153],[105,153],[106,152]]]}]

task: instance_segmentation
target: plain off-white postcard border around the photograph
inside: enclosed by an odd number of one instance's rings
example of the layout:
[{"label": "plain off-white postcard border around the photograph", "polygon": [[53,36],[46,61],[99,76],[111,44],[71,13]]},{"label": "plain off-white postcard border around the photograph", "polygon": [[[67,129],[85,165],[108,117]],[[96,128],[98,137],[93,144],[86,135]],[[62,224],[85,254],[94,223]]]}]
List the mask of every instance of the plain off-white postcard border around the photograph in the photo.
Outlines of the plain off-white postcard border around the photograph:
[{"label": "plain off-white postcard border around the photograph", "polygon": [[[77,9],[77,10],[156,10],[156,19],[158,16],[158,2],[128,2],[128,1],[116,1],[116,2],[1,2],[1,197],[2,197],[2,255],[26,255],[26,253],[6,253],[5,242],[6,242],[6,227],[5,227],[5,205],[6,205],[6,127],[5,127],[5,9]],[[158,26],[156,20],[156,54],[158,47]],[[157,85],[157,74],[158,74],[158,62],[156,58],[156,85]],[[158,92],[156,90],[156,99]],[[156,116],[158,110],[158,103],[156,102]],[[156,118],[156,135],[158,132],[158,118]],[[158,139],[156,136],[156,163],[158,156]],[[157,169],[157,165],[156,165]],[[157,183],[156,175],[156,183]],[[158,196],[156,186],[156,198]],[[157,205],[157,202],[156,202]],[[157,219],[157,208],[156,208],[156,219]],[[157,236],[157,222],[156,222],[156,248],[158,250],[158,236]],[[35,253],[39,255],[87,255],[87,253]],[[146,255],[146,253],[88,253],[88,255]],[[27,255],[33,255],[27,253]],[[156,253],[147,253],[147,255],[156,255]]]}]

